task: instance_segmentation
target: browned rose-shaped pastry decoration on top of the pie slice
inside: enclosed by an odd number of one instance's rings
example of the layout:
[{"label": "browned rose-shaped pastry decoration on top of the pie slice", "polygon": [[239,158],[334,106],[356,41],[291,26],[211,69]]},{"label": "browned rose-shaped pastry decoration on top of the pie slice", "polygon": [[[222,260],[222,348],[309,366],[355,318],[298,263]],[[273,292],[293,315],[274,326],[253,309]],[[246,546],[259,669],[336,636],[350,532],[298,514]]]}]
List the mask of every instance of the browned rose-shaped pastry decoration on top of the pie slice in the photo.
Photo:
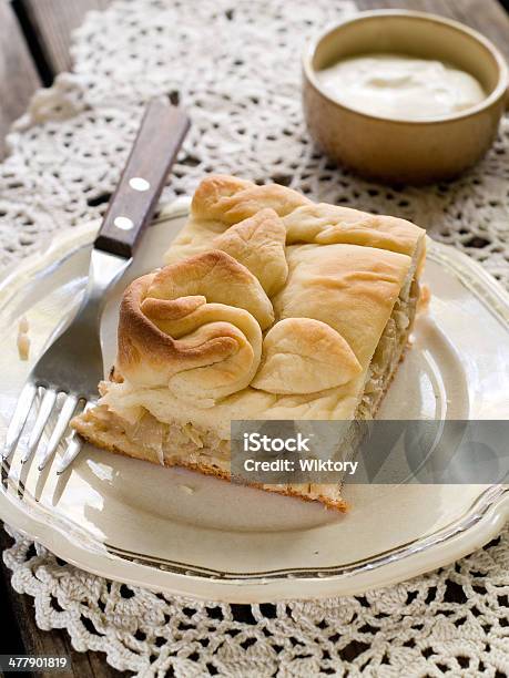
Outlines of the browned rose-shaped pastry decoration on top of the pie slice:
[{"label": "browned rose-shaped pastry decoration on top of the pie slice", "polygon": [[274,311],[258,280],[228,254],[211,250],[134,280],[120,308],[118,368],[144,387],[192,397],[245,388]]}]

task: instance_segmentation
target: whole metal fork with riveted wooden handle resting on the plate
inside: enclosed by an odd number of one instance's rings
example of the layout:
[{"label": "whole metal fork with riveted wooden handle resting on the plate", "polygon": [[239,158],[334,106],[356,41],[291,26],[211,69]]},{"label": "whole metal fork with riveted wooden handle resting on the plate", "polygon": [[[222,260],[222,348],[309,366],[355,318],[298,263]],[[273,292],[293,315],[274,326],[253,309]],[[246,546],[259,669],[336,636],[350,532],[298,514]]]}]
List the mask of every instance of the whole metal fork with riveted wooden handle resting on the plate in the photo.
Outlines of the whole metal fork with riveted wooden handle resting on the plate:
[{"label": "whole metal fork with riveted wooden handle resting on the plate", "polygon": [[[98,382],[103,376],[99,340],[101,312],[108,291],[129,268],[136,245],[149,224],[164,179],[187,133],[190,121],[185,113],[171,106],[166,99],[154,99],[147,106],[140,131],[122,177],[110,202],[101,229],[92,249],[89,281],[84,298],[73,320],[59,328],[50,347],[31,370],[18,399],[7,431],[2,461],[18,446],[38,391],[43,392],[28,444],[22,450],[21,463],[38,451],[38,469],[42,471],[53,456],[77,411],[79,401],[92,405]],[[44,445],[40,441],[58,396],[63,401],[53,430]],[[81,439],[72,432],[57,473],[62,473],[81,449]]]}]

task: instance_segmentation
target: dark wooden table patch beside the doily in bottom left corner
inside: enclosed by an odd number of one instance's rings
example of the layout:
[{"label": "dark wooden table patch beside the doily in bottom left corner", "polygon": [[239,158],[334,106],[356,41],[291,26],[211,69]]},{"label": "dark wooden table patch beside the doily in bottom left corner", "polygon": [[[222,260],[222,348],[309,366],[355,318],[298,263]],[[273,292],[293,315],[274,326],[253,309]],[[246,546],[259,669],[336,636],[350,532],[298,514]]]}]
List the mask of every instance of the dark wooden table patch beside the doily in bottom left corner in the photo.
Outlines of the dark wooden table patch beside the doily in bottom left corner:
[{"label": "dark wooden table patch beside the doily in bottom left corner", "polygon": [[[0,524],[0,549],[12,543]],[[42,631],[35,624],[33,598],[17,593],[10,585],[11,573],[0,564],[0,603],[2,610],[1,654],[54,655],[71,658],[71,667],[58,674],[61,678],[116,678],[126,674],[106,664],[103,654],[78,653],[64,629]],[[52,671],[33,674],[41,678],[54,678]]]}]

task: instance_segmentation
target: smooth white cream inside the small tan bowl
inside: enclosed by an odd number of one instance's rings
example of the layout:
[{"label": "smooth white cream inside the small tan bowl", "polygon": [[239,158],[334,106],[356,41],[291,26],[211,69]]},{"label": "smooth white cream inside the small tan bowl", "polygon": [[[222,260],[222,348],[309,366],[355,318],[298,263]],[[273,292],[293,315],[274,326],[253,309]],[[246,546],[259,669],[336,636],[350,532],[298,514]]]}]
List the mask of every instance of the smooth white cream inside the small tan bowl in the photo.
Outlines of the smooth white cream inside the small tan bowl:
[{"label": "smooth white cream inside the small tan bowl", "polygon": [[471,109],[486,97],[469,73],[426,59],[373,53],[318,72],[329,96],[350,109],[397,120],[424,120]]}]

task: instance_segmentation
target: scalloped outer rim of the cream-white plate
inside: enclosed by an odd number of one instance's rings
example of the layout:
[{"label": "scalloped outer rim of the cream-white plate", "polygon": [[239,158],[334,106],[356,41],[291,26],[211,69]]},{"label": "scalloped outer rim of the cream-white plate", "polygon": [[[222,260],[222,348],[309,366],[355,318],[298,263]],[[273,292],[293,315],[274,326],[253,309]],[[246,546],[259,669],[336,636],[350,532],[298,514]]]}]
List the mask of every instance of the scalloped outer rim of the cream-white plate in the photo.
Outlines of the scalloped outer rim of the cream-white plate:
[{"label": "scalloped outer rim of the cream-white plate", "polygon": [[[156,220],[182,217],[189,210],[189,197],[163,205],[161,216]],[[11,297],[9,294],[12,292],[11,284],[16,295],[23,288],[26,276],[47,270],[48,259],[54,264],[64,255],[70,256],[79,248],[90,245],[91,236],[99,224],[99,220],[93,220],[59,234],[58,242],[57,238],[51,240],[49,248],[43,253],[43,258],[41,253],[35,253],[4,271],[0,280],[0,314],[7,296]],[[449,265],[461,281],[509,329],[509,295],[498,282],[465,254],[430,238],[428,244],[430,256]],[[93,546],[79,541],[77,535],[65,532],[63,525],[49,520],[45,511],[38,513],[35,507],[20,502],[3,491],[0,492],[0,513],[4,522],[30,535],[57,556],[99,576],[201,599],[259,603],[359,594],[368,588],[388,586],[454,562],[482,546],[500,532],[509,520],[509,489],[485,487],[475,505],[452,525],[425,540],[394,548],[387,554],[378,554],[379,557],[362,564],[354,572],[317,573],[313,577],[304,574],[287,575],[283,578],[273,571],[262,577],[247,574],[244,577],[237,575],[238,578],[235,576],[218,578],[214,575],[204,576],[200,574],[198,568],[194,573],[155,568],[119,557],[104,544],[96,543]],[[440,537],[440,534],[444,536]],[[434,541],[431,537],[436,535],[438,540]],[[62,536],[65,538],[62,540]],[[419,542],[430,542],[430,544],[427,546],[421,544],[419,547]]]}]

